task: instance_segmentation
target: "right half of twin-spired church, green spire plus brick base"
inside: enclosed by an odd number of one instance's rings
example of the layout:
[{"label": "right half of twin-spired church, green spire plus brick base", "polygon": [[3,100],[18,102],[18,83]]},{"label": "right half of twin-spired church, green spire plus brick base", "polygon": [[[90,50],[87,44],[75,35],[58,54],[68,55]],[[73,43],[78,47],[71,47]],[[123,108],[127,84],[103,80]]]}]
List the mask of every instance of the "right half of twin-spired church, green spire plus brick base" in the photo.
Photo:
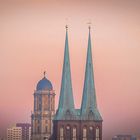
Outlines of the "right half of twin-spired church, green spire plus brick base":
[{"label": "right half of twin-spired church, green spire plus brick base", "polygon": [[[80,111],[82,140],[102,140],[102,117],[97,108],[89,26],[83,97]],[[80,139],[79,139],[80,140]]]}]

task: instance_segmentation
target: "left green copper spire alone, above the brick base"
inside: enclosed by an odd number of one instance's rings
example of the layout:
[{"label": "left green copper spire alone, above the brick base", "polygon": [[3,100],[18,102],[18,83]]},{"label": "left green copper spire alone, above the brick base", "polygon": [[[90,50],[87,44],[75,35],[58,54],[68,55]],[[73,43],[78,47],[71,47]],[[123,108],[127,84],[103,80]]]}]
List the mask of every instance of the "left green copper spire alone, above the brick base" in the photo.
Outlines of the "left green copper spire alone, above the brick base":
[{"label": "left green copper spire alone, above the brick base", "polygon": [[68,45],[68,26],[66,26],[65,52],[63,62],[63,72],[61,81],[61,91],[59,98],[59,106],[56,113],[56,120],[70,119],[74,115],[74,100],[71,82],[69,45]]}]

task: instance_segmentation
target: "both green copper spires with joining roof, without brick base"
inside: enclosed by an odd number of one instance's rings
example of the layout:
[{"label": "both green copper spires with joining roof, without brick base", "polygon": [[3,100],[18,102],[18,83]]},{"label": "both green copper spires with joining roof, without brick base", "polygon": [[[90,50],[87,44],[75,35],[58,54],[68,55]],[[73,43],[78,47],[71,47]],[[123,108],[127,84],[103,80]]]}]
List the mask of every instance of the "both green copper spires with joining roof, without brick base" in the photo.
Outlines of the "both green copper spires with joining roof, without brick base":
[{"label": "both green copper spires with joining roof, without brick base", "polygon": [[89,27],[82,104],[81,104],[81,109],[75,109],[72,82],[71,82],[69,45],[68,45],[68,26],[66,26],[66,39],[65,39],[61,91],[60,91],[58,110],[55,116],[56,120],[65,120],[65,119],[66,120],[69,119],[102,120],[99,111],[97,109],[97,103],[96,103],[90,30],[91,28]]}]

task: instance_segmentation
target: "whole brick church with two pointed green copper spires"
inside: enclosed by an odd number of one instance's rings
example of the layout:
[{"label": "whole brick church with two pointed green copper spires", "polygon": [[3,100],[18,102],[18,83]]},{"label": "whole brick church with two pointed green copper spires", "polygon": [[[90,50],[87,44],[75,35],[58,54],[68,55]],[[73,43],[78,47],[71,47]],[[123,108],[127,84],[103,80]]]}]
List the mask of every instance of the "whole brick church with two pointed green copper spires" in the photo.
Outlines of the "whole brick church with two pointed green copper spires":
[{"label": "whole brick church with two pointed green copper spires", "polygon": [[71,82],[68,27],[66,26],[61,91],[58,109],[53,120],[53,140],[102,140],[102,117],[96,102],[90,34],[89,27],[82,103],[80,109],[75,109]]}]

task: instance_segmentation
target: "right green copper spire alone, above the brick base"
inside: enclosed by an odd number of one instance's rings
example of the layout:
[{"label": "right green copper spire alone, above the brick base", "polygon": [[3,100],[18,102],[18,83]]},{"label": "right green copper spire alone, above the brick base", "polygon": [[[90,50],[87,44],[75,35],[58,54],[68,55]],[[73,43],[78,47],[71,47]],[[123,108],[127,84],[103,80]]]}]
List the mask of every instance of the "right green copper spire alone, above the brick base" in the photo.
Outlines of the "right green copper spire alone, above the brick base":
[{"label": "right green copper spire alone, above the brick base", "polygon": [[102,118],[99,114],[96,103],[90,30],[91,29],[89,26],[85,80],[81,104],[81,118],[101,120]]}]

